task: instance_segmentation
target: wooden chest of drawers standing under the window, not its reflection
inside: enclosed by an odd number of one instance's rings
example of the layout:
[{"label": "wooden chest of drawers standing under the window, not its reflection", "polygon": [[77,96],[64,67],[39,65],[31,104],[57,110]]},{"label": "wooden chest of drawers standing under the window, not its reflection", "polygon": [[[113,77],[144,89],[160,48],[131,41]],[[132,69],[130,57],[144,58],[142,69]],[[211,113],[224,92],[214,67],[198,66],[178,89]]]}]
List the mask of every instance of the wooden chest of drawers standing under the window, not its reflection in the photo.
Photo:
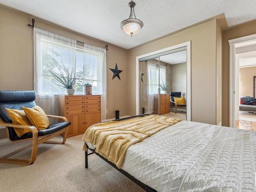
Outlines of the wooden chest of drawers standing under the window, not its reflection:
[{"label": "wooden chest of drawers standing under the window, not its reflection", "polygon": [[101,122],[101,96],[61,95],[59,115],[71,122],[68,137],[83,134],[90,125]]}]

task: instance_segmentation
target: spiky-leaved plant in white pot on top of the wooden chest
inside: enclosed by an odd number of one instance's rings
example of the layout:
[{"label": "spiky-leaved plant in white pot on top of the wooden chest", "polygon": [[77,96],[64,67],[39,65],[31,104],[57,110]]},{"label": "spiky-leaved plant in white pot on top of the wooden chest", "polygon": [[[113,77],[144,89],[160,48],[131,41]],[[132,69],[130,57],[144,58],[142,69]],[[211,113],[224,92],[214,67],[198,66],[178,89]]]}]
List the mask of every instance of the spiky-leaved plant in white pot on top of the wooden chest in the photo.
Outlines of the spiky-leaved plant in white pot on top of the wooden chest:
[{"label": "spiky-leaved plant in white pot on top of the wooden chest", "polygon": [[67,69],[65,65],[63,65],[63,70],[59,70],[59,74],[56,74],[49,70],[49,72],[53,75],[53,77],[60,83],[57,86],[60,86],[67,90],[68,95],[74,95],[76,84],[80,81],[80,77],[82,73],[75,73],[73,70]]}]

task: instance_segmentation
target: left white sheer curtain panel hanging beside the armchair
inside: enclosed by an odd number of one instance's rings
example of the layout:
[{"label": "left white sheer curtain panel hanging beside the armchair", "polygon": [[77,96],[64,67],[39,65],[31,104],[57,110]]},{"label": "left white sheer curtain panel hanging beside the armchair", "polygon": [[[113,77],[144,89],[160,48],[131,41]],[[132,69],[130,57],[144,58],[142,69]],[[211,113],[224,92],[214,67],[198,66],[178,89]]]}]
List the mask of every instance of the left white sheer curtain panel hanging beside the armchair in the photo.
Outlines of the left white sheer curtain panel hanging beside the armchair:
[{"label": "left white sheer curtain panel hanging beside the armchair", "polygon": [[65,94],[64,89],[56,86],[58,82],[49,70],[58,73],[62,63],[72,68],[75,49],[75,39],[34,28],[34,89],[37,92],[36,103],[46,114],[59,114],[56,95]]}]

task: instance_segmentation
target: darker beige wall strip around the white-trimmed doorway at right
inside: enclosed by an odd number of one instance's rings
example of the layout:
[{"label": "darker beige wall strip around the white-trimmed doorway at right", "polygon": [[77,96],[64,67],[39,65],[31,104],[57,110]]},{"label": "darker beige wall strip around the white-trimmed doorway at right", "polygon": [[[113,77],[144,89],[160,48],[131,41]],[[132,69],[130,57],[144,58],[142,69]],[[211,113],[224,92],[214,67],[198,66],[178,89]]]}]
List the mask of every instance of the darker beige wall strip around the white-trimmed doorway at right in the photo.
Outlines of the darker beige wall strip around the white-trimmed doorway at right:
[{"label": "darker beige wall strip around the white-trimmed doorway at right", "polygon": [[256,20],[222,32],[222,125],[229,126],[229,46],[228,40],[256,33]]}]

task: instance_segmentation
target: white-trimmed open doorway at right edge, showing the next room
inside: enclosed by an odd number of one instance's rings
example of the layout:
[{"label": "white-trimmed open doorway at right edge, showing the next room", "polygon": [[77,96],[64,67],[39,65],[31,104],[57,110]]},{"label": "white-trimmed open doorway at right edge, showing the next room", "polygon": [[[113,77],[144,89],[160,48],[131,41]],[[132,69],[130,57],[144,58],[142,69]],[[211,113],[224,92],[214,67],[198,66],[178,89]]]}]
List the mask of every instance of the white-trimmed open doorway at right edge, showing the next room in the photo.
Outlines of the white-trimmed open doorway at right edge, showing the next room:
[{"label": "white-trimmed open doorway at right edge, showing the next room", "polygon": [[256,34],[229,40],[229,124],[256,131]]}]

